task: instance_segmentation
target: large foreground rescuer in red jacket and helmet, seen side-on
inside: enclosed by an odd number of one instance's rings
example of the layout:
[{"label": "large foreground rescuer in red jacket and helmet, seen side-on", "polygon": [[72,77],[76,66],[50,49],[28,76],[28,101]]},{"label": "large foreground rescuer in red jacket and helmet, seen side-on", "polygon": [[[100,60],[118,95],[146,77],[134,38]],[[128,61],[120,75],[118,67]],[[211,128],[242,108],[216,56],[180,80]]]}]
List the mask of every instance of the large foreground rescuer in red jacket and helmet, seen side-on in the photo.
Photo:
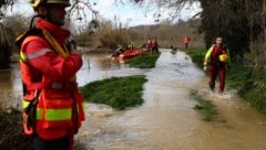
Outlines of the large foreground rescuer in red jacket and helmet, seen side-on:
[{"label": "large foreground rescuer in red jacket and helmet, seen side-on", "polygon": [[73,136],[84,120],[76,72],[79,52],[68,47],[70,31],[62,29],[69,0],[31,0],[37,15],[17,39],[23,85],[23,130],[34,150],[72,150]]}]

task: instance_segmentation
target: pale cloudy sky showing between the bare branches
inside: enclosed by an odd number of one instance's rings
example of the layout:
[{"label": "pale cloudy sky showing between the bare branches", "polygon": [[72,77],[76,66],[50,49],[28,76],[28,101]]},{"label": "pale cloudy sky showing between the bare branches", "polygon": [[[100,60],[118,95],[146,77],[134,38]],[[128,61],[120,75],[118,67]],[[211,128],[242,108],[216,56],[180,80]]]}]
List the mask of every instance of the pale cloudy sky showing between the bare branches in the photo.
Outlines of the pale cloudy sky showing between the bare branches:
[{"label": "pale cloudy sky showing between the bare branches", "polygon": [[[30,7],[29,0],[19,0],[18,3],[13,6],[12,14],[20,13],[24,15],[32,15],[33,10]],[[85,0],[86,1],[86,0]],[[154,13],[157,13],[157,8],[150,7],[150,8],[140,8],[133,3],[126,2],[126,4],[122,3],[114,3],[115,0],[90,0],[92,3],[96,3],[95,6],[92,4],[94,10],[99,11],[100,15],[104,19],[114,21],[116,19],[117,22],[122,24],[127,24],[130,26],[140,25],[140,24],[154,24]],[[91,20],[92,14],[88,10],[86,21]],[[200,11],[200,4],[195,3],[193,7],[185,7],[183,11],[178,14],[178,19],[186,20],[197,13]],[[10,13],[9,13],[10,14]],[[167,10],[162,10],[161,19],[166,18]],[[177,20],[178,20],[177,19]],[[83,24],[82,22],[79,23],[76,20],[75,23]]]}]

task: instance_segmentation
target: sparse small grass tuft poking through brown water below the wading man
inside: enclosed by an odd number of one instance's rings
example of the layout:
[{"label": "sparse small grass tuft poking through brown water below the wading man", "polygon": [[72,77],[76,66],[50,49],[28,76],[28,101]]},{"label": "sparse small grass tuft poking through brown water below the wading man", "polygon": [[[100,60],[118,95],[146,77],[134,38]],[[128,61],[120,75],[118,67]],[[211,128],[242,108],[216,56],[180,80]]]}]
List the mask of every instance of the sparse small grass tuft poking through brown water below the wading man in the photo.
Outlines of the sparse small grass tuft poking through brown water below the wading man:
[{"label": "sparse small grass tuft poking through brown water below the wading man", "polygon": [[209,100],[204,99],[197,90],[191,90],[191,97],[197,101],[194,109],[197,109],[203,115],[203,120],[212,121],[217,116],[217,109]]}]

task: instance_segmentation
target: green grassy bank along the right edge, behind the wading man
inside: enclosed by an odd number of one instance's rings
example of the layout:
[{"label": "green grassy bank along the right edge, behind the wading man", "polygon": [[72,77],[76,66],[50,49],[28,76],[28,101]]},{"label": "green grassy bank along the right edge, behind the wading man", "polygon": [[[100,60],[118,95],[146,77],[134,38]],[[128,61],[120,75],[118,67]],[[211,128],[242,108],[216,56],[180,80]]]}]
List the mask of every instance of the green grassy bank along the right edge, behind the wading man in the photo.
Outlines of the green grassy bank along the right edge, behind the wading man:
[{"label": "green grassy bank along the right edge, behind the wading man", "polygon": [[[203,68],[206,49],[190,49],[185,52],[200,68]],[[249,65],[243,62],[232,61],[231,71],[226,76],[226,86],[236,89],[243,99],[247,100],[259,113],[266,115],[266,78],[263,69],[250,69]]]}]

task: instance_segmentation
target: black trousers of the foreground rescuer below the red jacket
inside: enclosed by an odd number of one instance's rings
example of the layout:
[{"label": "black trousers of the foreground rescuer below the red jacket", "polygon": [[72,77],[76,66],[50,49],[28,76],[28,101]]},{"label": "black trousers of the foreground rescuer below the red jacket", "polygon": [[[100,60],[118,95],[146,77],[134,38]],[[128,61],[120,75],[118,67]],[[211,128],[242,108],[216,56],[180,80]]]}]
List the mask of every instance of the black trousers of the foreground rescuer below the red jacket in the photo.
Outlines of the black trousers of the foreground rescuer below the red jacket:
[{"label": "black trousers of the foreground rescuer below the red jacket", "polygon": [[70,137],[63,137],[55,140],[43,140],[37,135],[33,136],[34,150],[69,150]]}]

